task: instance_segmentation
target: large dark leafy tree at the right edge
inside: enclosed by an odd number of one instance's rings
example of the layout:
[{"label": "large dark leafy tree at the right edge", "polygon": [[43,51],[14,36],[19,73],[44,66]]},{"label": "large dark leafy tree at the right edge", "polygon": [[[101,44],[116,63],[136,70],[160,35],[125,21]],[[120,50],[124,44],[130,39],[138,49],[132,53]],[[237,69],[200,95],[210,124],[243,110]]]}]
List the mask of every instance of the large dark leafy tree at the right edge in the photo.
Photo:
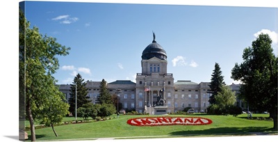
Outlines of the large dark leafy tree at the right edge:
[{"label": "large dark leafy tree at the right edge", "polygon": [[240,80],[240,97],[250,107],[259,111],[268,110],[277,129],[277,63],[273,54],[272,40],[261,33],[252,42],[252,47],[243,50],[243,63],[236,63],[231,70],[231,79]]}]

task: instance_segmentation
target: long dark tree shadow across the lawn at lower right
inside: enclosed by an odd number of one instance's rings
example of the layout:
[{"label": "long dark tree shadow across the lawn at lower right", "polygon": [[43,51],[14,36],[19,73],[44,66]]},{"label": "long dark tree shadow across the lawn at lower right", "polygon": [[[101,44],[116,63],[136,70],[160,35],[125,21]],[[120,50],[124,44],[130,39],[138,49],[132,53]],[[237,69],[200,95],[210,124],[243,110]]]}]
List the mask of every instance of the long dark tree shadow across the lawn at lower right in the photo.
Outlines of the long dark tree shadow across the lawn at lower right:
[{"label": "long dark tree shadow across the lawn at lower right", "polygon": [[270,127],[218,127],[211,129],[179,131],[172,132],[172,136],[190,136],[190,135],[247,135],[247,134],[273,134],[277,131]]}]

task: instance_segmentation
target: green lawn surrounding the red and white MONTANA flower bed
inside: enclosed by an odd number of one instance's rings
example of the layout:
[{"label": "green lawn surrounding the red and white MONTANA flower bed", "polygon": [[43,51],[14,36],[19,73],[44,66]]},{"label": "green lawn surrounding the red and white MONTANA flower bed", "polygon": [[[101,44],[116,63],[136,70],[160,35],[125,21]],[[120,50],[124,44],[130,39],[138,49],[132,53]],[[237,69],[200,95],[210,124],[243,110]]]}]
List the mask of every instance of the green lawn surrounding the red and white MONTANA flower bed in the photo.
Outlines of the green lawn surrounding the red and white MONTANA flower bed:
[{"label": "green lawn surrounding the red and white MONTANA flower bed", "polygon": [[[169,115],[175,117],[177,115]],[[181,115],[179,115],[181,116]],[[190,115],[192,116],[192,115]],[[97,139],[105,137],[125,137],[125,136],[192,136],[192,135],[218,135],[218,134],[248,134],[249,132],[273,132],[273,121],[271,120],[248,120],[247,114],[233,116],[208,116],[195,114],[202,118],[213,121],[211,125],[173,125],[155,127],[137,127],[126,123],[129,118],[147,116],[120,116],[112,120],[97,121],[93,123],[80,123],[60,125],[54,127],[58,137],[54,135],[51,127],[35,129],[37,141],[58,140],[58,139]],[[253,114],[252,117],[265,117],[268,114]],[[184,116],[183,116],[184,117]],[[74,120],[74,117],[65,118],[65,121]],[[81,118],[79,118],[81,120]],[[30,131],[27,131],[30,138]],[[277,134],[277,132],[275,132]],[[30,141],[30,140],[28,140]]]}]

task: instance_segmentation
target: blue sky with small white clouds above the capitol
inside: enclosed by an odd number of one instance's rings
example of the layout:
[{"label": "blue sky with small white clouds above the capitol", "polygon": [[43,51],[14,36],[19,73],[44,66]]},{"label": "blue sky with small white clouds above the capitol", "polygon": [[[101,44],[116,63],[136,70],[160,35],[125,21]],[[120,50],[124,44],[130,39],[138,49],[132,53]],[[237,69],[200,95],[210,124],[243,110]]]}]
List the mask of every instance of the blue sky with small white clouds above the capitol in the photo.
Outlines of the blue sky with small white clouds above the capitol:
[{"label": "blue sky with small white clouds above the capitol", "polygon": [[277,52],[277,8],[50,1],[27,1],[25,8],[42,35],[71,47],[58,56],[57,84],[71,84],[76,73],[85,81],[135,81],[152,31],[174,81],[209,82],[219,63],[225,83],[235,82],[231,69],[258,32],[276,36]]}]

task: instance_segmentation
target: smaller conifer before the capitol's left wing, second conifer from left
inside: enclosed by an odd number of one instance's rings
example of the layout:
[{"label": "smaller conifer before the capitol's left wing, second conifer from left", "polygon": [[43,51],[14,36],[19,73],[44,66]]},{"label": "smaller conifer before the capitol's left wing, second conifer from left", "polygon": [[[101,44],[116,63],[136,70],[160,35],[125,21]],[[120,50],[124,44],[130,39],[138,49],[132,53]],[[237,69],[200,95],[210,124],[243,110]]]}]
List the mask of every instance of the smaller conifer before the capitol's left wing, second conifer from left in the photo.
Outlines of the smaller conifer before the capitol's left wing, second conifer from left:
[{"label": "smaller conifer before the capitol's left wing, second conifer from left", "polygon": [[112,104],[112,98],[110,93],[108,92],[107,82],[102,79],[99,86],[99,96],[97,96],[97,104]]}]

